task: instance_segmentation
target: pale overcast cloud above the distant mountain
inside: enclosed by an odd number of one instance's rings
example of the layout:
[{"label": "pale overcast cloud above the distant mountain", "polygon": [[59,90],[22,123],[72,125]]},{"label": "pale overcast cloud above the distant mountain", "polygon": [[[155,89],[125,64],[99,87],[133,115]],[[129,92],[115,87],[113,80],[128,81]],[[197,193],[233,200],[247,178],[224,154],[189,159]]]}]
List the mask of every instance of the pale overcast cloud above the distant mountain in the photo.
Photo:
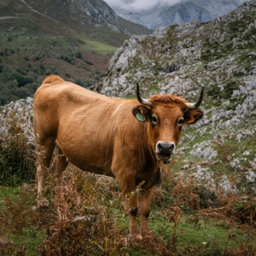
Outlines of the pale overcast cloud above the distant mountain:
[{"label": "pale overcast cloud above the distant mountain", "polygon": [[[154,7],[155,5],[161,5],[168,3],[168,5],[175,5],[178,2],[182,2],[182,0],[103,0],[110,7],[116,5],[122,7],[122,9],[149,9],[150,7]],[[185,1],[185,0],[183,0]],[[240,4],[247,0],[238,0]]]}]

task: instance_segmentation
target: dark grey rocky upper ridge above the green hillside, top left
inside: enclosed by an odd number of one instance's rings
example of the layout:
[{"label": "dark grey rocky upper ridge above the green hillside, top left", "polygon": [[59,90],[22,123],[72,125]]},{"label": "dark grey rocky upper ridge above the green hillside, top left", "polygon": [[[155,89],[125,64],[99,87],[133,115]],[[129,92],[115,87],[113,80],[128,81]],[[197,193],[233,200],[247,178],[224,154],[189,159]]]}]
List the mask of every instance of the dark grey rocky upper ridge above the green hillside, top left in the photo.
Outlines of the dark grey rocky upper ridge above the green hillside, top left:
[{"label": "dark grey rocky upper ridge above the green hillside, top left", "polygon": [[[35,14],[48,18],[54,23],[67,23],[74,22],[81,25],[90,25],[95,27],[105,27],[108,29],[116,30],[121,33],[130,34],[129,28],[123,26],[109,5],[102,0],[46,0],[46,1],[33,1],[33,0],[18,0],[17,2],[2,2],[0,3],[0,18],[1,19],[17,19],[19,12],[24,8]],[[137,30],[148,33],[149,30],[140,26]]]}]

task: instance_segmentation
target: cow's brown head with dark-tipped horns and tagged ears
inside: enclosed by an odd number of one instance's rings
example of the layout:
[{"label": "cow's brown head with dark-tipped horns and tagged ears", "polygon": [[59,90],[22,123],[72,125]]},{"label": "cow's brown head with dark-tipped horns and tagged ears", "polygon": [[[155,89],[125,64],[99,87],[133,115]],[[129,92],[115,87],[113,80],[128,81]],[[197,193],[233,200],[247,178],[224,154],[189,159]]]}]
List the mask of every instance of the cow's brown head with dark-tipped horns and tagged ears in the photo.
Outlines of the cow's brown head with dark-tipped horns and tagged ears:
[{"label": "cow's brown head with dark-tipped horns and tagged ears", "polygon": [[203,89],[198,101],[189,103],[175,95],[153,95],[150,99],[143,99],[137,84],[140,105],[133,108],[133,116],[140,122],[147,122],[150,145],[154,147],[158,160],[168,161],[171,154],[175,154],[182,127],[202,118],[203,113],[199,106]]}]

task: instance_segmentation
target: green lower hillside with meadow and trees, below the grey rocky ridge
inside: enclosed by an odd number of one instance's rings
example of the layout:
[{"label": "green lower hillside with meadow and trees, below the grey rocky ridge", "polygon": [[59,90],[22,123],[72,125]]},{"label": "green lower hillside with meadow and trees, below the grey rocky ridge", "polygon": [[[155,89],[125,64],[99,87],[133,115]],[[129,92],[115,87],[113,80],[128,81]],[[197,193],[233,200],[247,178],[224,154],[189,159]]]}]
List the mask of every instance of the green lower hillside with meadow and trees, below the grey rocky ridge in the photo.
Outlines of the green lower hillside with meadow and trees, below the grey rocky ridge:
[{"label": "green lower hillside with meadow and trees, below the grey rocky ridge", "polygon": [[128,38],[104,27],[54,18],[21,1],[0,3],[0,105],[33,96],[48,74],[93,85]]}]

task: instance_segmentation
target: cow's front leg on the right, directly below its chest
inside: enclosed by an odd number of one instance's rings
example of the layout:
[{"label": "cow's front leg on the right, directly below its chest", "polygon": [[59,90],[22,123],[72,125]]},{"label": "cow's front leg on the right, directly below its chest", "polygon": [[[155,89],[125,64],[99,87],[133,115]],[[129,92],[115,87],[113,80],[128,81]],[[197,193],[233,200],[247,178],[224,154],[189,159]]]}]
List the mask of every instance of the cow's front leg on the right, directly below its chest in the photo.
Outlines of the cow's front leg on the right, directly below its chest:
[{"label": "cow's front leg on the right, directly below its chest", "polygon": [[150,214],[150,203],[153,192],[154,187],[147,191],[140,192],[139,195],[140,232],[143,237],[150,233],[148,216]]}]

